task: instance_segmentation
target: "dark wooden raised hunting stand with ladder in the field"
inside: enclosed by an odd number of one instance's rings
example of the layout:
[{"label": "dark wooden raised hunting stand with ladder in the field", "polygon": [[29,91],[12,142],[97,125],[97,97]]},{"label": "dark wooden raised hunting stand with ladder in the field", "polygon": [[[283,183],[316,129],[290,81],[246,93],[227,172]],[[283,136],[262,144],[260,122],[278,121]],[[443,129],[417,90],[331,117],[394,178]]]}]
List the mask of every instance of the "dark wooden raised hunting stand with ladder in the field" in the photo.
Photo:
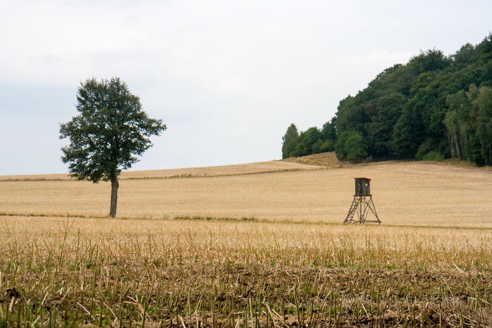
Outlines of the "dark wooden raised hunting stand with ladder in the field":
[{"label": "dark wooden raised hunting stand with ladder in the field", "polygon": [[374,207],[374,202],[372,201],[372,195],[370,194],[370,179],[368,178],[354,178],[354,179],[355,179],[354,200],[352,201],[352,205],[350,206],[347,217],[345,218],[343,223],[361,223],[361,224],[366,222],[374,222],[378,224],[381,223],[381,221],[377,217],[376,208]]}]

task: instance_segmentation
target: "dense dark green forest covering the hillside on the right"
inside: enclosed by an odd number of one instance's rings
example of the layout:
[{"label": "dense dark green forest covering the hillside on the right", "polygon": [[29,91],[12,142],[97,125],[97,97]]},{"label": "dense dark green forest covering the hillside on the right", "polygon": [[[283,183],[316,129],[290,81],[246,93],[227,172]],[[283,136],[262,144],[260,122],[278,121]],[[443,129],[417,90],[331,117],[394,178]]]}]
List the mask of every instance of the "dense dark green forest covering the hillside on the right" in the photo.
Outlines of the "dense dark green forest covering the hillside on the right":
[{"label": "dense dark green forest covering the hillside on the right", "polygon": [[321,129],[291,124],[282,156],[335,150],[338,159],[467,159],[492,165],[492,34],[455,54],[428,50],[342,99]]}]

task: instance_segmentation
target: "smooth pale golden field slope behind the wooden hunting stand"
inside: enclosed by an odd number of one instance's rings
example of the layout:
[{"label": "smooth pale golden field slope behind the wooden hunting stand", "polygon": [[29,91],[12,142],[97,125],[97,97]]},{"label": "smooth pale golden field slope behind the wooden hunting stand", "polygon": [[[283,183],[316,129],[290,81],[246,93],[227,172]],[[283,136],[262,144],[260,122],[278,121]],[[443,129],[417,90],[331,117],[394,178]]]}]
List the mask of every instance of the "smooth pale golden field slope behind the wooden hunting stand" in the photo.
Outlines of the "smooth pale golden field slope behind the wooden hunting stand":
[{"label": "smooth pale golden field slope behind the wooden hunting stand", "polygon": [[[283,162],[273,162],[279,163]],[[212,178],[122,180],[118,214],[338,223],[345,218],[352,201],[353,178],[365,176],[372,179],[371,191],[383,224],[492,226],[492,172],[486,170],[381,162],[339,169],[243,173]],[[142,172],[130,174],[146,177]],[[0,211],[4,213],[104,216],[109,211],[109,183],[0,181],[0,188]]]}]

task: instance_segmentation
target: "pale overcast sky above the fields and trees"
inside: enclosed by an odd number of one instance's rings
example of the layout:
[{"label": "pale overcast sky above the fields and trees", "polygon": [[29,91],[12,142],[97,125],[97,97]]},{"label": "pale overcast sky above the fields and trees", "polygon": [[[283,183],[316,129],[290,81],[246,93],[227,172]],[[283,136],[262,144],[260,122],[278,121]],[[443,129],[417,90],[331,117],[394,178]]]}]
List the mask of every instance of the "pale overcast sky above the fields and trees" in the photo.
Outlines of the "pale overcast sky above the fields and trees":
[{"label": "pale overcast sky above the fields and trees", "polygon": [[282,136],[420,51],[492,31],[492,1],[0,0],[0,175],[68,172],[59,124],[120,77],[167,131],[132,170],[281,158]]}]

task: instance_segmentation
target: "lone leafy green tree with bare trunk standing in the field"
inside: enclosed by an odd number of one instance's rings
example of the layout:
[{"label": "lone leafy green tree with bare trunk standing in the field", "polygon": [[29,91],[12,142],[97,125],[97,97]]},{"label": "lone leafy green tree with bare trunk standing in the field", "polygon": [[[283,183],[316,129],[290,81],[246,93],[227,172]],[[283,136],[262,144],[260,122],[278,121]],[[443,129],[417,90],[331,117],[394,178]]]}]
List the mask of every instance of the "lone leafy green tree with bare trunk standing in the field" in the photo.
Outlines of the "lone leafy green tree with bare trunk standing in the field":
[{"label": "lone leafy green tree with bare trunk standing in the field", "polygon": [[75,179],[111,181],[109,215],[115,217],[118,176],[152,146],[149,137],[166,130],[166,124],[150,119],[140,98],[119,78],[81,83],[76,109],[78,116],[60,124],[60,139],[70,138],[62,148],[62,161],[69,163]]}]

